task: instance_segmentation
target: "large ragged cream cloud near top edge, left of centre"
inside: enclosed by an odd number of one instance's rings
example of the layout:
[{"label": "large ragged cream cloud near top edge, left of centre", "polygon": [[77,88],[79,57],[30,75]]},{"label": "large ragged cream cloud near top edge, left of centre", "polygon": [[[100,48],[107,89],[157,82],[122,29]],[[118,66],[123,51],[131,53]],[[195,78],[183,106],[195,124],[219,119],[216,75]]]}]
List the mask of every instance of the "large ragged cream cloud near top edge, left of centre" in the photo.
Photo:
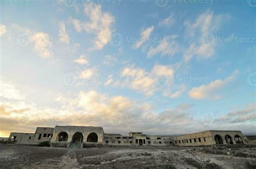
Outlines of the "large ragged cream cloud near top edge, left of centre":
[{"label": "large ragged cream cloud near top edge, left of centre", "polygon": [[84,13],[89,18],[89,22],[83,23],[71,17],[69,20],[76,31],[85,30],[87,33],[95,34],[96,37],[92,40],[93,47],[90,50],[101,50],[111,40],[114,17],[109,12],[103,12],[101,5],[93,3],[84,4]]}]

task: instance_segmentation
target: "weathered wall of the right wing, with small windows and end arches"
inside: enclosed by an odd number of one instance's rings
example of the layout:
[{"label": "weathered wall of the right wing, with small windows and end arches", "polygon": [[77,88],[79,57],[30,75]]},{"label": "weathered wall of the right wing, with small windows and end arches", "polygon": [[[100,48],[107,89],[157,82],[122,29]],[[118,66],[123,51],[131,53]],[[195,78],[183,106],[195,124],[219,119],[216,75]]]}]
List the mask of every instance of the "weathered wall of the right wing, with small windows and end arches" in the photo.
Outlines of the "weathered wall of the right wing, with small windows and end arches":
[{"label": "weathered wall of the right wing, with small windows and end arches", "polygon": [[[237,144],[235,136],[239,136],[242,142],[246,144],[241,131],[226,131],[226,130],[209,130],[188,135],[173,137],[174,145],[178,146],[200,146],[200,145],[216,145],[215,136],[220,136],[222,144]],[[229,138],[227,138],[229,136]],[[230,140],[231,139],[231,140]]]}]

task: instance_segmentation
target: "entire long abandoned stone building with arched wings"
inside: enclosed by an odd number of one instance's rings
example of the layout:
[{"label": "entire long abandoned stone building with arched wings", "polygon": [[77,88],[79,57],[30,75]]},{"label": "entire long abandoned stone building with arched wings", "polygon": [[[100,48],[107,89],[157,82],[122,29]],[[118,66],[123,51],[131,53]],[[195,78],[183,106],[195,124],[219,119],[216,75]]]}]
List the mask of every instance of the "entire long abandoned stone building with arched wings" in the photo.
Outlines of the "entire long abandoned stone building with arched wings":
[{"label": "entire long abandoned stone building with arched wings", "polygon": [[104,133],[99,126],[55,126],[38,127],[35,133],[11,132],[8,143],[37,145],[49,142],[58,147],[98,146],[201,146],[218,144],[248,144],[241,131],[209,130],[182,136],[151,136],[143,132],[130,132],[123,136]]}]

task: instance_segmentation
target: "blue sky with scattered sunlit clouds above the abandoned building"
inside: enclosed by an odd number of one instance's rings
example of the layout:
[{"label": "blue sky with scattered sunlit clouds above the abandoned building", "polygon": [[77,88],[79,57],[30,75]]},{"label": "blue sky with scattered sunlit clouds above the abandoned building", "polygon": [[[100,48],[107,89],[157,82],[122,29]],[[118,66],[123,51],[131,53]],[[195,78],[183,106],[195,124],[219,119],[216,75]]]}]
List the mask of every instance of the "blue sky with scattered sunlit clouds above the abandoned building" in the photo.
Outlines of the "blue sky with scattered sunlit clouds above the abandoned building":
[{"label": "blue sky with scattered sunlit clouds above the abandoned building", "polygon": [[0,5],[0,137],[56,125],[255,133],[253,1]]}]

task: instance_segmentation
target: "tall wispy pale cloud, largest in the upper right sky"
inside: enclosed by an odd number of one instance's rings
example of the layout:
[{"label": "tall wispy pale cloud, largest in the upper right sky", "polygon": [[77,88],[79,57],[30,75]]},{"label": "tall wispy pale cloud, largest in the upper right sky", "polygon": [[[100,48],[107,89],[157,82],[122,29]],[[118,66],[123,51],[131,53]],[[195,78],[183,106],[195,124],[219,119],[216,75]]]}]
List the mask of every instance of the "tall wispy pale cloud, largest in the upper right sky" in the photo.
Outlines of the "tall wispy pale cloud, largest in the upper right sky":
[{"label": "tall wispy pale cloud, largest in the upper right sky", "polygon": [[214,34],[228,19],[230,19],[230,15],[214,15],[211,10],[206,10],[199,15],[194,23],[185,20],[186,32],[192,39],[192,43],[183,54],[184,61],[190,61],[195,55],[198,56],[198,59],[211,58],[216,47]]}]

